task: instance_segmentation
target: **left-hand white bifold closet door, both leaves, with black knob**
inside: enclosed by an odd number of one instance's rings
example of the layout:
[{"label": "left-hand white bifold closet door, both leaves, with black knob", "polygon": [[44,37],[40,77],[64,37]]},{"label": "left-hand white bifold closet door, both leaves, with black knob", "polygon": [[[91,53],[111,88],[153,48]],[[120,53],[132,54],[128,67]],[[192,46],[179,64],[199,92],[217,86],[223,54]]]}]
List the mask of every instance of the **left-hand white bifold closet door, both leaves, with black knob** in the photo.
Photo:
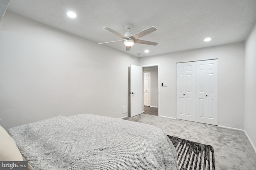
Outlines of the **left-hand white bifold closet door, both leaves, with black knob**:
[{"label": "left-hand white bifold closet door, both leaves, with black knob", "polygon": [[176,117],[195,121],[195,62],[176,64]]}]

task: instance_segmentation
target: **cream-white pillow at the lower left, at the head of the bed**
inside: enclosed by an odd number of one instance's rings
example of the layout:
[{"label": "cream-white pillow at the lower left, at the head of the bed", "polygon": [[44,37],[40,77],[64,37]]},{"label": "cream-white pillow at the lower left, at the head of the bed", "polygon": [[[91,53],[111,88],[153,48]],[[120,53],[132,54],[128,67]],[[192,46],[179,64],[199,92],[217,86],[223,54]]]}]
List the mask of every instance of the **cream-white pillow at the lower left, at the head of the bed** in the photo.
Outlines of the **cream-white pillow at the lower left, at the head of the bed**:
[{"label": "cream-white pillow at the lower left, at the head of the bed", "polygon": [[1,161],[23,161],[20,150],[15,141],[6,130],[0,126],[0,160]]}]

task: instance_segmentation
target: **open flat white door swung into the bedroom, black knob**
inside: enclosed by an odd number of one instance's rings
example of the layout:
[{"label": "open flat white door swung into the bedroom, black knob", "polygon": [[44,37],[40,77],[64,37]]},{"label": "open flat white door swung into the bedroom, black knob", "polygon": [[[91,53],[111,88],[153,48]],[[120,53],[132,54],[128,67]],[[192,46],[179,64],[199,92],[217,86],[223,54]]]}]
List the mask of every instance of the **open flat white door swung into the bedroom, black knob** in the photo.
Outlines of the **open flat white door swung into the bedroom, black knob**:
[{"label": "open flat white door swung into the bedroom, black knob", "polygon": [[132,117],[143,112],[143,71],[141,66],[131,65],[130,80],[130,116]]}]

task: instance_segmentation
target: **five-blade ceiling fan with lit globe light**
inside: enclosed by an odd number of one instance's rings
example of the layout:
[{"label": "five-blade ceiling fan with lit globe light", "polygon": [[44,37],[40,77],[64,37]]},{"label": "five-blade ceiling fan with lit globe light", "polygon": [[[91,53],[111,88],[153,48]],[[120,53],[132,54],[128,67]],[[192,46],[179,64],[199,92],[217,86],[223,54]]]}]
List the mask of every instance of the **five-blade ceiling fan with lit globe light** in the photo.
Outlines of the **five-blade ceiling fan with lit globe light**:
[{"label": "five-blade ceiling fan with lit globe light", "polygon": [[[149,33],[152,33],[153,31],[156,31],[157,30],[156,27],[150,27],[150,28],[140,31],[134,35],[132,35],[132,33],[130,32],[130,29],[132,29],[132,27],[133,27],[132,24],[126,24],[125,28],[128,29],[128,31],[124,35],[114,31],[113,29],[111,29],[109,27],[103,27],[104,29],[116,34],[117,36],[119,36],[123,39],[123,40],[117,40],[117,41],[109,41],[106,43],[116,43],[116,42],[124,41],[126,51],[129,51],[131,49],[132,45],[134,45],[134,43],[146,44],[146,45],[157,45],[158,44],[158,43],[154,43],[151,41],[145,41],[145,40],[139,39],[140,37],[143,37],[145,35],[148,35]],[[98,43],[98,44],[106,44],[106,43]]]}]

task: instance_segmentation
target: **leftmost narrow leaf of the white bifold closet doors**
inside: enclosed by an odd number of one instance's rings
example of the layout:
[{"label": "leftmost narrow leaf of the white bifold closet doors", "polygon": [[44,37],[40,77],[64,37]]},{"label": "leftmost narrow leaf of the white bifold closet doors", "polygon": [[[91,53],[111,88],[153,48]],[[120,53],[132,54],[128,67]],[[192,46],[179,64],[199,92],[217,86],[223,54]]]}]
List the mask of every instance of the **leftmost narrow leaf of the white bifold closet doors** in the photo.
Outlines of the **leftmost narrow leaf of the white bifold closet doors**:
[{"label": "leftmost narrow leaf of the white bifold closet doors", "polygon": [[176,118],[185,120],[185,63],[176,64]]}]

